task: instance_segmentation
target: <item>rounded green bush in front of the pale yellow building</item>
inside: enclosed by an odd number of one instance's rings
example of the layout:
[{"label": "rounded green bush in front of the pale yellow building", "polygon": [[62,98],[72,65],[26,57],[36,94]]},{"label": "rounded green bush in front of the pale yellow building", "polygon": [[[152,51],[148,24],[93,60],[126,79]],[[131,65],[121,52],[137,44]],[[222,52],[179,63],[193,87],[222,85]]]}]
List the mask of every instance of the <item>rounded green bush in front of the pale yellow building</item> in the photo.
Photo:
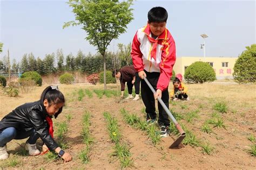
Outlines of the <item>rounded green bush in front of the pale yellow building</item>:
[{"label": "rounded green bush in front of the pale yellow building", "polygon": [[206,62],[197,61],[188,66],[184,74],[188,83],[204,83],[216,80],[214,69]]}]

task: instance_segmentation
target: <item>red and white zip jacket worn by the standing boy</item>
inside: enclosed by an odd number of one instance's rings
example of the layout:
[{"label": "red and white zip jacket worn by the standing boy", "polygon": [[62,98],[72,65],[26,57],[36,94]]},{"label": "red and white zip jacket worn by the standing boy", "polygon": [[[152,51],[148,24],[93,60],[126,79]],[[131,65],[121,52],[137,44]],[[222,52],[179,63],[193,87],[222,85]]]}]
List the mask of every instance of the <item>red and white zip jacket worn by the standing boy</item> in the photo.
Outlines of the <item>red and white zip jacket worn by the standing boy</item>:
[{"label": "red and white zip jacket worn by the standing boy", "polygon": [[[132,41],[131,57],[134,68],[137,72],[146,70],[147,72],[160,73],[157,89],[166,90],[172,76],[172,68],[176,61],[176,47],[171,33],[165,31],[156,38],[156,54],[152,56],[153,42],[151,38],[150,26],[146,25],[139,29]],[[152,38],[151,38],[152,39]]]}]

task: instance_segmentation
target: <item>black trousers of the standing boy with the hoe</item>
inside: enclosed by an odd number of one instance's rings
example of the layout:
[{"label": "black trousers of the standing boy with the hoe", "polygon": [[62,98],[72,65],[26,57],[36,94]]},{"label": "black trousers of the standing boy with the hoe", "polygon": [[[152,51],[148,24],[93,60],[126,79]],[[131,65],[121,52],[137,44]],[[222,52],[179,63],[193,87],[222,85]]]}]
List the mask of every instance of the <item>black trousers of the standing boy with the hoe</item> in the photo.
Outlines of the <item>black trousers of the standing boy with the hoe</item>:
[{"label": "black trousers of the standing boy with the hoe", "polygon": [[[146,77],[147,80],[149,80],[150,84],[156,90],[160,73],[157,73],[157,72],[149,73],[149,72],[146,72],[145,70],[144,70],[144,72],[147,75],[147,77]],[[142,80],[141,88],[142,88],[142,100],[146,107],[147,119],[155,119],[157,117],[157,114],[156,114],[154,95],[144,80]],[[163,100],[166,107],[169,108],[168,88],[166,90],[162,91],[161,100]],[[159,102],[158,102],[158,110],[159,110],[158,124],[160,126],[161,125],[170,126],[170,119],[169,119],[166,111],[164,110],[164,108],[161,106],[161,104]]]}]

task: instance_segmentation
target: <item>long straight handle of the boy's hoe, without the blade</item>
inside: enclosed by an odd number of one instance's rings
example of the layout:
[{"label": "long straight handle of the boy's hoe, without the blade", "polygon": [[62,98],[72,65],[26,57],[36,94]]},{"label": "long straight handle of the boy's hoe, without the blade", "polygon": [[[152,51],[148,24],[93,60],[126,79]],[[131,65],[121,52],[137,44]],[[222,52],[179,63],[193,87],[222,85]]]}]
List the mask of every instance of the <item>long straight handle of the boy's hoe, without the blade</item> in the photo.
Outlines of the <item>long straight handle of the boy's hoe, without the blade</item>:
[{"label": "long straight handle of the boy's hoe, without the blade", "polygon": [[[147,83],[147,86],[149,86],[149,88],[153,92],[153,94],[156,94],[156,90],[154,90],[154,88],[152,87],[152,85],[150,84],[150,82],[147,80],[147,78],[145,76],[144,76],[144,80]],[[184,130],[181,128],[181,126],[176,121],[176,119],[172,116],[171,111],[166,107],[166,105],[164,104],[163,100],[161,100],[160,97],[157,97],[157,100],[161,104],[161,106],[164,108],[164,110],[166,111],[167,115],[172,119],[172,122],[174,123],[174,125],[176,126],[176,128],[178,129],[180,134],[185,134]]]}]

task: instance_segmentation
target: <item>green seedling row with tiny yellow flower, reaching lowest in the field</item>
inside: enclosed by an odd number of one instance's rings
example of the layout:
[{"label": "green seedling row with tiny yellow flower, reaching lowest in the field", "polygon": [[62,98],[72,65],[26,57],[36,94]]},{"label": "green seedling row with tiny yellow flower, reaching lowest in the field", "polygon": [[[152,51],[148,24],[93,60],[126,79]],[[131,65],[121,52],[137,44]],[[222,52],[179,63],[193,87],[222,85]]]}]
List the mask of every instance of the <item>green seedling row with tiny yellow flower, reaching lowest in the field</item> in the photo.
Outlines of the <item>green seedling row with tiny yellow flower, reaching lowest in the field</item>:
[{"label": "green seedling row with tiny yellow flower, reaching lowest in the field", "polygon": [[109,131],[109,136],[112,142],[115,144],[114,153],[112,153],[112,156],[119,158],[121,168],[131,167],[133,164],[131,160],[131,153],[129,151],[129,147],[121,141],[122,135],[118,128],[117,119],[112,117],[109,112],[104,112],[103,115],[107,121],[107,130]]}]

